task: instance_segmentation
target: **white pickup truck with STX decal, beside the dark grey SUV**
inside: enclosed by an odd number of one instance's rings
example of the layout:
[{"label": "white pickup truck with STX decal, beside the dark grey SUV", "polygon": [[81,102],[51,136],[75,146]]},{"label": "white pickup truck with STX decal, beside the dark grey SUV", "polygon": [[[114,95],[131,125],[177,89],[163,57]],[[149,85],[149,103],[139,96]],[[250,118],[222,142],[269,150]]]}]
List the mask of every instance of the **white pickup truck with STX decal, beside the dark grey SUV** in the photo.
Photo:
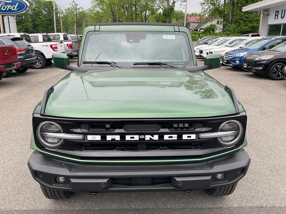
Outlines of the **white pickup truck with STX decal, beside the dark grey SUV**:
[{"label": "white pickup truck with STX decal, beside the dark grey SUV", "polygon": [[48,34],[36,33],[29,35],[32,40],[31,45],[37,55],[37,62],[32,66],[33,68],[44,68],[46,64],[51,64],[53,53],[66,52],[63,41],[52,41]]}]

